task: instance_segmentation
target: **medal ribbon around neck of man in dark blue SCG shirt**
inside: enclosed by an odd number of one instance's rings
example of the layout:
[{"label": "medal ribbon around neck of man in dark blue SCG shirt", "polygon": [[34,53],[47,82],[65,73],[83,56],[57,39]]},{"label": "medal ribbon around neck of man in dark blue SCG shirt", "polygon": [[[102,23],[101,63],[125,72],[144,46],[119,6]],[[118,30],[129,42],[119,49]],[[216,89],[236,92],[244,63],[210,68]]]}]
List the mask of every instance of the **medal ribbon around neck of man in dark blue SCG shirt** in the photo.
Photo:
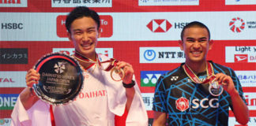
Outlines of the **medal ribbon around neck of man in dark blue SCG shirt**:
[{"label": "medal ribbon around neck of man in dark blue SCG shirt", "polygon": [[213,72],[213,65],[209,61],[206,62],[207,77],[204,81],[201,81],[188,65],[183,65],[183,69],[186,72],[186,75],[189,76],[190,80],[192,80],[194,83],[209,83],[216,78]]}]

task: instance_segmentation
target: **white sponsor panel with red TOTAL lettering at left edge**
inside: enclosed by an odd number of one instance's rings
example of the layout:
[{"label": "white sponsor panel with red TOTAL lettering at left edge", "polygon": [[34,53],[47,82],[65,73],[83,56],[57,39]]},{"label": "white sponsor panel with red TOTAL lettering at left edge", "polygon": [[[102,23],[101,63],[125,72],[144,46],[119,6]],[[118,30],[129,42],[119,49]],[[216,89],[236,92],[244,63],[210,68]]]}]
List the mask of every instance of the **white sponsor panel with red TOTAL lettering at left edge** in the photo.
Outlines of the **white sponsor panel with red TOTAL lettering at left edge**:
[{"label": "white sponsor panel with red TOTAL lettering at left edge", "polygon": [[0,87],[26,87],[26,73],[22,71],[0,71]]}]

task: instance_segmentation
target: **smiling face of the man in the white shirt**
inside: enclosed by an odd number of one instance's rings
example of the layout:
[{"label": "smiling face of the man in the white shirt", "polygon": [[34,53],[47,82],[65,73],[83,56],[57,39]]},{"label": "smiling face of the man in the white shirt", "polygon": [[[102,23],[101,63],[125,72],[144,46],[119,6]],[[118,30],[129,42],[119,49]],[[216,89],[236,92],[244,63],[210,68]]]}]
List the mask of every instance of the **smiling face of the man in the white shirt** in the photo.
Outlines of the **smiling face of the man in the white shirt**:
[{"label": "smiling face of the man in the white shirt", "polygon": [[70,41],[73,42],[75,50],[85,57],[94,58],[95,48],[98,43],[100,33],[97,24],[92,17],[81,17],[73,20],[68,33]]}]

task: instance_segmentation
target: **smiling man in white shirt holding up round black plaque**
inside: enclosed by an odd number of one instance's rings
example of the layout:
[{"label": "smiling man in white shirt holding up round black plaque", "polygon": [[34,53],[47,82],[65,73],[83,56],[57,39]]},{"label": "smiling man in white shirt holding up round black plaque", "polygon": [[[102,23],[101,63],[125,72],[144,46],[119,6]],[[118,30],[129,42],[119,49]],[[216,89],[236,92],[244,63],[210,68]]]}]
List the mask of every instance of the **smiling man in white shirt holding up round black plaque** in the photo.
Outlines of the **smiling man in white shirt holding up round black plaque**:
[{"label": "smiling man in white shirt holding up round black plaque", "polygon": [[113,126],[115,115],[122,116],[126,109],[126,126],[147,126],[148,116],[132,65],[125,61],[117,62],[116,67],[124,71],[122,81],[112,80],[111,73],[99,67],[102,65],[100,62],[109,60],[96,54],[100,37],[99,15],[87,7],[76,7],[66,18],[66,29],[75,54],[89,60],[74,56],[84,69],[84,87],[80,94],[66,105],[50,106],[31,90],[32,85],[40,80],[40,74],[30,69],[26,75],[27,87],[13,109],[11,125]]}]

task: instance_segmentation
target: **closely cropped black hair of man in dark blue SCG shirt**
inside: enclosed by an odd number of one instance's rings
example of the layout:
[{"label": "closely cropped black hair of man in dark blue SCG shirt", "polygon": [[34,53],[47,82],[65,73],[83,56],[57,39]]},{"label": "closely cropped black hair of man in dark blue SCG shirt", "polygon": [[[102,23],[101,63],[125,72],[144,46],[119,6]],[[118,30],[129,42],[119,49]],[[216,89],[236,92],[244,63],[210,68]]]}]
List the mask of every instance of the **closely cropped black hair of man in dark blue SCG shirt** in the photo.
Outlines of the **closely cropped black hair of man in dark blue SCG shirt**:
[{"label": "closely cropped black hair of man in dark blue SCG shirt", "polygon": [[183,31],[181,32],[181,35],[180,35],[180,38],[182,41],[183,41],[184,31],[186,30],[186,28],[193,28],[193,27],[206,28],[206,30],[208,31],[209,39],[210,39],[211,35],[209,32],[209,28],[205,24],[202,24],[199,21],[193,21],[193,22],[190,22],[189,24],[186,24],[186,26],[183,28]]}]

